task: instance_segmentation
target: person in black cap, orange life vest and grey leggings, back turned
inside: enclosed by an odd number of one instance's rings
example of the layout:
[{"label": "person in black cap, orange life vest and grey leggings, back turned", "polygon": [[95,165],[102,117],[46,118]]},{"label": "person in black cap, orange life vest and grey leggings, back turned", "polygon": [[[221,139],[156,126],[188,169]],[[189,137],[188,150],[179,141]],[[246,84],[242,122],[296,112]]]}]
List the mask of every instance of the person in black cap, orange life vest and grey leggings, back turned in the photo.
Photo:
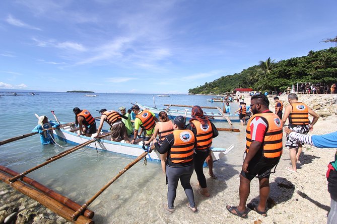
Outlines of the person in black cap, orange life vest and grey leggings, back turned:
[{"label": "person in black cap, orange life vest and grey leggings, back turned", "polygon": [[167,135],[162,142],[156,142],[152,148],[156,148],[160,154],[167,154],[166,179],[167,179],[167,209],[171,213],[174,209],[174,199],[177,193],[178,181],[184,188],[188,198],[187,207],[196,211],[193,188],[190,179],[193,174],[193,154],[195,136],[192,131],[185,129],[185,119],[177,116],[173,120],[173,132]]}]

